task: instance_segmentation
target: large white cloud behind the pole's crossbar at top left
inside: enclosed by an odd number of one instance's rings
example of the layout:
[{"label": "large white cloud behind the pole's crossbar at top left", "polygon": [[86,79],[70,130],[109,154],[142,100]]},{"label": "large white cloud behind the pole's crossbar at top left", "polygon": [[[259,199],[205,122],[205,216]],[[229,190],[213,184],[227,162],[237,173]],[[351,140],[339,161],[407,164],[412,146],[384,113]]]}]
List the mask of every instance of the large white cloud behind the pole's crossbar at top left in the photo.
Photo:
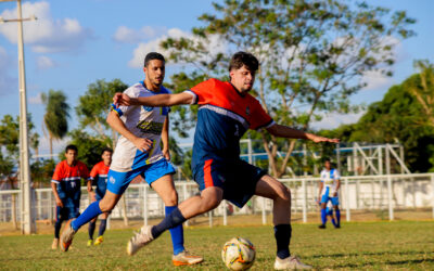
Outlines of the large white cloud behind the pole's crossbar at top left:
[{"label": "large white cloud behind the pole's crossbar at top left", "polygon": [[[93,37],[92,30],[85,28],[75,18],[54,20],[50,4],[46,1],[23,3],[23,17],[35,15],[38,20],[24,23],[24,41],[38,53],[66,52],[79,50],[86,40]],[[16,9],[5,10],[0,16],[16,18]],[[0,34],[9,41],[17,42],[16,24],[0,25]]]}]

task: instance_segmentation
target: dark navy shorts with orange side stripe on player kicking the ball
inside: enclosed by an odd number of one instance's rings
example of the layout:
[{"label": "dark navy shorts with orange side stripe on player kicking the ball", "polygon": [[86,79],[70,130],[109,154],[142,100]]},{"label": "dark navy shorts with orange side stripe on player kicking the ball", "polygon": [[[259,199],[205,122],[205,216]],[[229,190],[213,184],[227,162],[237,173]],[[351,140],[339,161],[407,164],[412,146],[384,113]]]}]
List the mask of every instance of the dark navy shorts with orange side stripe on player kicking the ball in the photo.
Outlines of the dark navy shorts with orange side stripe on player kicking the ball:
[{"label": "dark navy shorts with orange side stripe on player kicking the ball", "polygon": [[194,181],[202,191],[217,186],[224,190],[224,198],[242,208],[255,194],[256,183],[267,172],[239,159],[206,159],[193,169]]}]

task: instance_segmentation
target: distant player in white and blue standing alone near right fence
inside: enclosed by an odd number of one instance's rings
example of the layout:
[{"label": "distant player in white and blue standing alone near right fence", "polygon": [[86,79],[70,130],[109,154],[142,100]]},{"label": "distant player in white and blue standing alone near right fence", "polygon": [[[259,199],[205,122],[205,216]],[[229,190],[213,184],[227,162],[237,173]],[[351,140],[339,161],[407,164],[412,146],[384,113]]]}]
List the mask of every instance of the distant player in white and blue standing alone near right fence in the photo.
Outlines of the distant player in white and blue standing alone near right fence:
[{"label": "distant player in white and blue standing alone near right fence", "polygon": [[[319,182],[318,202],[321,205],[321,224],[319,229],[326,229],[327,222],[327,203],[330,201],[336,215],[336,229],[341,228],[341,210],[339,208],[337,191],[341,186],[341,176],[337,169],[332,168],[330,159],[326,159],[324,169],[321,171]],[[334,223],[333,223],[334,224]]]}]

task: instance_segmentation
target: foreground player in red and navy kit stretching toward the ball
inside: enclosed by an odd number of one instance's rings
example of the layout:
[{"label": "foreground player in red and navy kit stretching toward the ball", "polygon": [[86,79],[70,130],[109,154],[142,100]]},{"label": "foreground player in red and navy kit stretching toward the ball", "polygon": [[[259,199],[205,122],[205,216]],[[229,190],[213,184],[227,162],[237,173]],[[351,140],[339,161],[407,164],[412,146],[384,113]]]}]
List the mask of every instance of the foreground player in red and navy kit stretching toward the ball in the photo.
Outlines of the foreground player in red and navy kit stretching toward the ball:
[{"label": "foreground player in red and navy kit stretching toward the ball", "polygon": [[127,251],[139,248],[158,237],[164,231],[189,218],[216,208],[225,198],[238,207],[255,194],[273,201],[273,224],[277,242],[275,269],[309,269],[290,254],[291,192],[263,169],[240,158],[240,139],[247,129],[266,129],[275,137],[308,139],[314,142],[339,142],[276,124],[259,102],[248,94],[259,63],[251,53],[235,53],[229,64],[230,81],[209,79],[178,94],[150,98],[116,93],[118,104],[171,106],[200,104],[194,134],[192,172],[201,194],[180,203],[156,225],[143,225],[129,242]]}]

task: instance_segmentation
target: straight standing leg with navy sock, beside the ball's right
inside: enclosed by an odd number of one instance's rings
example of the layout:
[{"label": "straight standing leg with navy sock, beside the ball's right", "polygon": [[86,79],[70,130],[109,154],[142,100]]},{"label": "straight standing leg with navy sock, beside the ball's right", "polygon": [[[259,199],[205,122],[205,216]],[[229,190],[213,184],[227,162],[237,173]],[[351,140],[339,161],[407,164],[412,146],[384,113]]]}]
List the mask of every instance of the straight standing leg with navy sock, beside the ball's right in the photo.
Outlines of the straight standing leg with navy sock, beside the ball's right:
[{"label": "straight standing leg with navy sock, beside the ball's right", "polygon": [[290,243],[292,235],[291,227],[291,192],[281,182],[266,175],[256,184],[256,195],[272,199],[272,222],[275,224],[275,237],[277,243],[277,257],[275,269],[310,269],[296,256],[291,256]]}]

